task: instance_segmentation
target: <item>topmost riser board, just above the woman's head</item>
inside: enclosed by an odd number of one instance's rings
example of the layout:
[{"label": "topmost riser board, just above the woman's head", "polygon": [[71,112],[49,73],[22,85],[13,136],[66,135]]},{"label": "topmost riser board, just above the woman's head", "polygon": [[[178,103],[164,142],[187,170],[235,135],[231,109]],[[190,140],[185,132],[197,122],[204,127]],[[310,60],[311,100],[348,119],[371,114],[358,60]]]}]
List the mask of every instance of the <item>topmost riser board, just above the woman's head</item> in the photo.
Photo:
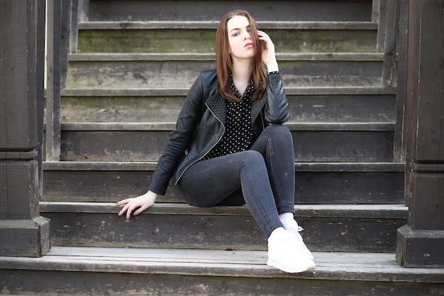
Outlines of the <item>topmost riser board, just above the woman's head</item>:
[{"label": "topmost riser board, just above the woman's head", "polygon": [[219,21],[245,9],[257,21],[371,21],[372,1],[100,1],[89,0],[89,21]]}]

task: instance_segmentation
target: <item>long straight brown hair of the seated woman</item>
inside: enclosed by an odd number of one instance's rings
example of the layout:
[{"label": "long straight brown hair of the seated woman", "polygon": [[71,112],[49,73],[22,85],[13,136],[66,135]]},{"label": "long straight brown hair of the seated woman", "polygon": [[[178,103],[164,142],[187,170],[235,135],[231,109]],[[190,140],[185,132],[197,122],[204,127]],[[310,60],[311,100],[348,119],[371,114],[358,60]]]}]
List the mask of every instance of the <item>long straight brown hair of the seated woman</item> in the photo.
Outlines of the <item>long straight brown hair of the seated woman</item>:
[{"label": "long straight brown hair of the seated woman", "polygon": [[219,89],[229,101],[240,102],[231,91],[230,75],[233,73],[233,61],[230,55],[230,45],[228,43],[227,23],[234,16],[245,16],[250,23],[250,37],[255,48],[255,57],[252,60],[252,77],[255,82],[255,92],[252,94],[252,101],[262,95],[267,84],[265,67],[262,64],[261,45],[257,38],[257,23],[250,13],[243,10],[226,13],[219,22],[216,31],[216,72],[219,81]]}]

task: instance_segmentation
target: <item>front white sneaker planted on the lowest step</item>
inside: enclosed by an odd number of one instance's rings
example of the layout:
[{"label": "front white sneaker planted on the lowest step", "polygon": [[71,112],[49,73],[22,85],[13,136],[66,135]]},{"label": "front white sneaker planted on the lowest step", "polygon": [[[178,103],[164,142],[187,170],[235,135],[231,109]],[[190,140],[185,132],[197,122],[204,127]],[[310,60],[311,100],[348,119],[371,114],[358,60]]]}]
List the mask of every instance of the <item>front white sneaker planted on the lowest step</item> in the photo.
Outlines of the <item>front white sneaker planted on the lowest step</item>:
[{"label": "front white sneaker planted on the lowest step", "polygon": [[301,273],[313,270],[316,265],[306,252],[297,248],[299,239],[292,231],[279,231],[268,239],[267,265],[286,273]]}]

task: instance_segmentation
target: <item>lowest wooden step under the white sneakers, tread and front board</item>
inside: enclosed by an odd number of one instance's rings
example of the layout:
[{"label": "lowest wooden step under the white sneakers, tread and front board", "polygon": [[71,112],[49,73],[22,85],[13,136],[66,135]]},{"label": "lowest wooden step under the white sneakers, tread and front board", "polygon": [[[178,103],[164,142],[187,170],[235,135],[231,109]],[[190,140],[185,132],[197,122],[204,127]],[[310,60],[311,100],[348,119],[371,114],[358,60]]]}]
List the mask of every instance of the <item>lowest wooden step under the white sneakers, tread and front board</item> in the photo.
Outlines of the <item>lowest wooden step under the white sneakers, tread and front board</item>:
[{"label": "lowest wooden step under the white sneakers, tread and front board", "polygon": [[266,251],[52,247],[42,258],[0,258],[0,290],[94,296],[444,295],[443,268],[402,268],[394,253],[313,256],[316,270],[288,274],[265,264]]}]

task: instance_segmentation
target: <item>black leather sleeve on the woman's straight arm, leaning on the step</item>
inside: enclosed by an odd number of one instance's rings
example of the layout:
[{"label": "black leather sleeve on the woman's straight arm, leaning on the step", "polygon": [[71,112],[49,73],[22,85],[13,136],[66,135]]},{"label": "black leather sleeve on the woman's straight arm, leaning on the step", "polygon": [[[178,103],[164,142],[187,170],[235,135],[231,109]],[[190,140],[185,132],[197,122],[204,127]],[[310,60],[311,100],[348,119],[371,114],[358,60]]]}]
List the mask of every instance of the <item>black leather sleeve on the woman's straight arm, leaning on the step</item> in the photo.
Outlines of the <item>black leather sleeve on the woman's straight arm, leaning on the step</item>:
[{"label": "black leather sleeve on the woman's straight arm, leaning on the step", "polygon": [[174,169],[192,141],[194,131],[201,118],[204,104],[202,74],[196,79],[187,94],[176,123],[176,129],[170,133],[165,151],[160,157],[150,180],[149,190],[164,195],[170,183]]}]

